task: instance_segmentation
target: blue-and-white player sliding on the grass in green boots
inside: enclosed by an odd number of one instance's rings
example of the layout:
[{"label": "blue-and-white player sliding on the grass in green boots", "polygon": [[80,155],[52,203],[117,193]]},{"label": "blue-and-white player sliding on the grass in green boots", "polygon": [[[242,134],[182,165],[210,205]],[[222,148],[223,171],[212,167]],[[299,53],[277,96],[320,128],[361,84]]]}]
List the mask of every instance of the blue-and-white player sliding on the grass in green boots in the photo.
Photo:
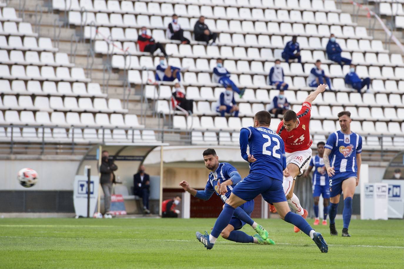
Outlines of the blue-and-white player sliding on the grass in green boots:
[{"label": "blue-and-white player sliding on the grass in green boots", "polygon": [[[208,182],[204,190],[195,190],[189,187],[187,181],[181,181],[179,185],[187,192],[202,200],[208,200],[215,192],[223,202],[229,198],[233,188],[241,181],[241,176],[229,163],[219,163],[219,157],[213,148],[208,148],[203,152],[205,166],[211,172],[209,173]],[[255,244],[275,244],[268,238],[268,232],[250,217],[254,210],[254,200],[246,202],[239,206],[233,214],[230,223],[221,231],[221,236],[227,240],[239,243],[255,243]],[[249,236],[240,230],[245,224],[258,233]],[[206,232],[207,233],[207,232]]]}]

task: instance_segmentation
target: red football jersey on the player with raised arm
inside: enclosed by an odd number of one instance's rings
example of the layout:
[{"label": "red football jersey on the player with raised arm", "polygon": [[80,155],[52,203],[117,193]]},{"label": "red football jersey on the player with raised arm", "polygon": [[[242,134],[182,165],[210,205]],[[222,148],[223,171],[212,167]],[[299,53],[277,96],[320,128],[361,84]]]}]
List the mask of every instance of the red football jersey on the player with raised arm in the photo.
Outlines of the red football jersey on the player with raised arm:
[{"label": "red football jersey on the player with raised arm", "polygon": [[299,150],[307,150],[313,141],[310,139],[309,123],[311,115],[311,104],[304,102],[302,108],[297,113],[299,125],[292,131],[286,131],[283,121],[278,125],[276,133],[280,135],[285,143],[285,152],[291,153]]}]

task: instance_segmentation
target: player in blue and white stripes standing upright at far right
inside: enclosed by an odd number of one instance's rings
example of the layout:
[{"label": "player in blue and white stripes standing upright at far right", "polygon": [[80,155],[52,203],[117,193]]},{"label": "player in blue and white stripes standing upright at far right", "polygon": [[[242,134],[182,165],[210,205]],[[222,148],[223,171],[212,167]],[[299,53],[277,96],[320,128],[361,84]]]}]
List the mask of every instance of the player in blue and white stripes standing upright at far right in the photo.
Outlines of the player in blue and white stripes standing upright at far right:
[{"label": "player in blue and white stripes standing upright at far right", "polygon": [[355,187],[359,184],[360,165],[362,158],[362,137],[351,131],[351,113],[338,113],[340,131],[328,136],[324,150],[324,165],[330,176],[330,234],[338,235],[335,229],[335,216],[341,192],[344,193],[344,210],[342,212],[344,227],[342,236],[348,234],[349,222],[352,215],[352,198]]}]

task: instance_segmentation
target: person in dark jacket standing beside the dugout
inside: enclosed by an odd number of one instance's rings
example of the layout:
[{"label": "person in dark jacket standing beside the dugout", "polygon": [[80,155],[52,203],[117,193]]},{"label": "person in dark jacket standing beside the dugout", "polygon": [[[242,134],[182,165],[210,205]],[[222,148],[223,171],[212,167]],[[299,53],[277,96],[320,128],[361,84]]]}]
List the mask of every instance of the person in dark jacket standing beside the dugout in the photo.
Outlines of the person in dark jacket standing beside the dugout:
[{"label": "person in dark jacket standing beside the dugout", "polygon": [[114,171],[117,169],[118,167],[115,165],[114,160],[109,159],[109,153],[103,150],[101,153],[100,183],[104,192],[105,215],[109,214],[111,210],[112,183],[115,182]]}]

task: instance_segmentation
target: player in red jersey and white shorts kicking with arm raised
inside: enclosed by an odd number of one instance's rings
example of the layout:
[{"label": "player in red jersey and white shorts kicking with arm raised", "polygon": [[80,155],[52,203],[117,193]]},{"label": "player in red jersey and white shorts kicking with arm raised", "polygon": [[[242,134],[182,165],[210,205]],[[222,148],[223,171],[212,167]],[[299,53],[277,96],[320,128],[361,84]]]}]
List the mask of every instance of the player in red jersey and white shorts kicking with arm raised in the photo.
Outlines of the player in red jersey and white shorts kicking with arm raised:
[{"label": "player in red jersey and white shorts kicking with arm raised", "polygon": [[[309,131],[311,102],[325,90],[326,84],[319,85],[314,92],[307,96],[297,114],[292,110],[286,111],[276,130],[285,143],[286,169],[284,170],[283,189],[286,199],[288,199],[290,207],[304,218],[307,217],[307,210],[301,207],[299,198],[293,193],[295,188],[294,179],[302,175],[309,165],[312,154],[310,146],[313,143],[310,139]],[[272,206],[270,206],[270,210],[274,212]],[[298,231],[300,229],[295,226],[295,232],[297,233]]]}]

